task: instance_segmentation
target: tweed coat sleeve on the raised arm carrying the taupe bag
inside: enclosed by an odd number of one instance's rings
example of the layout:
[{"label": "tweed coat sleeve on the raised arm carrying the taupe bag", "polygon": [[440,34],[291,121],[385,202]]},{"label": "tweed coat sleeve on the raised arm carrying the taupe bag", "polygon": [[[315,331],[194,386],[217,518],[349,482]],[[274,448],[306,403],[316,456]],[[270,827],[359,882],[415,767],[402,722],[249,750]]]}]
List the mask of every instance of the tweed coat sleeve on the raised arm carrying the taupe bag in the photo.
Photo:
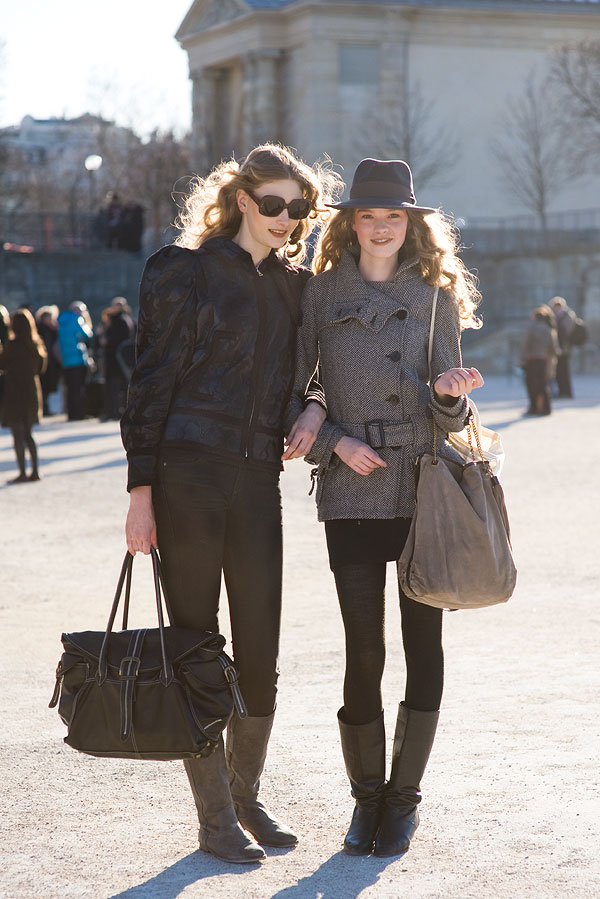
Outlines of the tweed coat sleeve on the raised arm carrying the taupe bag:
[{"label": "tweed coat sleeve on the raised arm carrying the taupe bag", "polygon": [[450,406],[441,403],[436,396],[434,384],[437,378],[451,368],[462,368],[460,321],[454,298],[447,291],[440,290],[433,331],[429,406],[437,426],[446,433],[462,431],[469,411],[464,395],[457,397]]}]

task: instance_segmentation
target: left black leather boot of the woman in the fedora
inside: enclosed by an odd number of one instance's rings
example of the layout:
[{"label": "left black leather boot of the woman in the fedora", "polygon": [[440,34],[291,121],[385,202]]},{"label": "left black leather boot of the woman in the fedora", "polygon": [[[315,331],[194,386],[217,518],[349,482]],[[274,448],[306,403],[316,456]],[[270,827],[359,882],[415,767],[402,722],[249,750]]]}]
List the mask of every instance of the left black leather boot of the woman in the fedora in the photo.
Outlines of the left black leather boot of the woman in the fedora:
[{"label": "left black leather boot of the woman in the fedora", "polygon": [[349,855],[369,855],[379,827],[385,790],[385,730],[383,712],[369,724],[346,724],[338,712],[342,753],[356,800],[344,840]]}]

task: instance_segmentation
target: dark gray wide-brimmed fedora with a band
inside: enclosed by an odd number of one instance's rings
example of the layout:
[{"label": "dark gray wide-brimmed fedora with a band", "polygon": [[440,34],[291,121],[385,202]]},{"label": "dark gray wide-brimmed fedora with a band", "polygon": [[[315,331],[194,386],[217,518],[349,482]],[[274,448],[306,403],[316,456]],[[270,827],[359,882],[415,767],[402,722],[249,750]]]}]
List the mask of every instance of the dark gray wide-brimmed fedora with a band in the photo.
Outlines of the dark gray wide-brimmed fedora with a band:
[{"label": "dark gray wide-brimmed fedora with a band", "polygon": [[414,209],[437,212],[432,206],[417,206],[412,172],[402,159],[363,159],[352,179],[350,197],[328,203],[332,209]]}]

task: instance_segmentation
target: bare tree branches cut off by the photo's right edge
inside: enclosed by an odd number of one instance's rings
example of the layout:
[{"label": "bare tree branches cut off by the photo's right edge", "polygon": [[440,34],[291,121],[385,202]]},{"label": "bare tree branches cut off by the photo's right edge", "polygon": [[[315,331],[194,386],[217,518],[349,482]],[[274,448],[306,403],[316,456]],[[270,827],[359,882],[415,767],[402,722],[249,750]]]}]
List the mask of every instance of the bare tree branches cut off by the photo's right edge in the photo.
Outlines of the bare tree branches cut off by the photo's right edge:
[{"label": "bare tree branches cut off by the photo's right edge", "polygon": [[598,170],[600,162],[600,40],[564,44],[554,51],[551,77],[562,99],[571,137],[572,172]]}]

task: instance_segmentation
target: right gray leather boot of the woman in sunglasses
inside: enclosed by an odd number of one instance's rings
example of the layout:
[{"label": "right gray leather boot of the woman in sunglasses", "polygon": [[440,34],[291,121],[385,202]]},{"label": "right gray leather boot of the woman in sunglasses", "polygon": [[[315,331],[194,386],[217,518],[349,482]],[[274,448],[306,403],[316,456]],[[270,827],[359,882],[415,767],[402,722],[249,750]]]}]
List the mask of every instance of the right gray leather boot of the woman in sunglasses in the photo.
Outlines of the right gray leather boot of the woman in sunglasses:
[{"label": "right gray leather boot of the woman in sunglasses", "polygon": [[298,837],[258,800],[260,776],[275,712],[266,717],[238,718],[227,726],[227,766],[231,797],[240,824],[263,846],[295,846]]}]

